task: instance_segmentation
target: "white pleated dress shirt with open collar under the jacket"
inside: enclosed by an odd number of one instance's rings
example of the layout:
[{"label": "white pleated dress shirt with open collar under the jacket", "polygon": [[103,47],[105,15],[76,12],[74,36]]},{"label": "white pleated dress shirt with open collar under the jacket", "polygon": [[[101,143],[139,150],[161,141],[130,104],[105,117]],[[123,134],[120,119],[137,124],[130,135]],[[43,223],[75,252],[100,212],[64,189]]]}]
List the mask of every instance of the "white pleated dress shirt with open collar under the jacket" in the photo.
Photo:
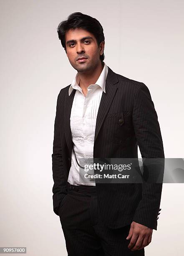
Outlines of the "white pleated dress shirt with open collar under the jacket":
[{"label": "white pleated dress shirt with open collar under the jacket", "polygon": [[[70,117],[73,148],[71,154],[71,168],[68,175],[68,182],[73,185],[83,184],[95,186],[95,182],[90,181],[90,183],[85,183],[83,177],[79,179],[81,171],[79,172],[79,166],[76,162],[76,158],[79,164],[80,158],[93,159],[96,117],[98,114],[102,93],[106,92],[105,86],[108,73],[108,67],[104,61],[103,63],[103,70],[96,83],[88,86],[86,97],[84,96],[81,87],[78,85],[80,82],[78,73],[73,79],[73,82],[68,90],[68,94],[70,96],[73,89],[76,89]],[[76,157],[73,149],[76,153]]]}]

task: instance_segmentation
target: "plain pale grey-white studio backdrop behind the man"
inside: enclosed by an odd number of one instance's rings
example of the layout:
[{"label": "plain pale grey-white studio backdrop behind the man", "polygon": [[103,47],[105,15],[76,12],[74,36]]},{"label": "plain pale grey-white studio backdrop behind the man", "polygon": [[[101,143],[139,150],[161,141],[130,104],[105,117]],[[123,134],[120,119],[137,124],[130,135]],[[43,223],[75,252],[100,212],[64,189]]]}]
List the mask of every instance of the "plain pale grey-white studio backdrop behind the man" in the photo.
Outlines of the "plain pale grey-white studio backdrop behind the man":
[{"label": "plain pale grey-white studio backdrop behind the man", "polygon": [[[26,246],[28,256],[64,256],[52,205],[51,154],[57,96],[76,70],[57,26],[77,11],[100,21],[104,61],[149,87],[165,157],[182,158],[184,1],[1,0],[0,10],[0,246]],[[181,255],[183,188],[163,185],[158,230],[146,255]]]}]

